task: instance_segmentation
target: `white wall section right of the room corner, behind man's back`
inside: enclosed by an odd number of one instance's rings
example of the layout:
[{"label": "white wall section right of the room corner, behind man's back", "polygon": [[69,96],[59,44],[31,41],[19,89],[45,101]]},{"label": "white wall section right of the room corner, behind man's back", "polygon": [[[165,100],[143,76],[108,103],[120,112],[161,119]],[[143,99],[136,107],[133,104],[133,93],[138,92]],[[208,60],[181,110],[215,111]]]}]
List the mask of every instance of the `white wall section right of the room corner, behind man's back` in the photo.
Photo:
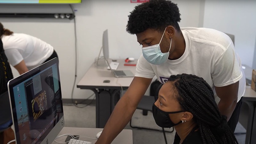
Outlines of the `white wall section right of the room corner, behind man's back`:
[{"label": "white wall section right of the room corner, behind man's back", "polygon": [[[256,38],[255,0],[205,0],[204,27],[235,35],[242,64],[252,67]],[[255,58],[256,59],[256,58]]]}]

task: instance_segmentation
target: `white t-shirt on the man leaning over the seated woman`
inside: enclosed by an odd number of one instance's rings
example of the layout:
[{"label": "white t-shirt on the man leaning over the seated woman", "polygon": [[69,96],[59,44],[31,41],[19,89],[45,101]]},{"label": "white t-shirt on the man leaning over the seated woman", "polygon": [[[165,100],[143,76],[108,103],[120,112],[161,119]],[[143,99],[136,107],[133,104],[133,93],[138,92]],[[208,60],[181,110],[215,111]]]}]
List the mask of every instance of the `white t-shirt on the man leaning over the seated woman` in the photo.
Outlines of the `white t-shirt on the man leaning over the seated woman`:
[{"label": "white t-shirt on the man leaning over the seated woman", "polygon": [[142,55],[138,60],[136,77],[153,78],[155,75],[165,83],[171,75],[182,73],[202,77],[213,89],[239,81],[238,100],[245,92],[245,76],[240,58],[231,39],[223,32],[207,28],[181,28],[185,39],[184,54],[176,60],[167,60],[161,65],[150,64]]}]

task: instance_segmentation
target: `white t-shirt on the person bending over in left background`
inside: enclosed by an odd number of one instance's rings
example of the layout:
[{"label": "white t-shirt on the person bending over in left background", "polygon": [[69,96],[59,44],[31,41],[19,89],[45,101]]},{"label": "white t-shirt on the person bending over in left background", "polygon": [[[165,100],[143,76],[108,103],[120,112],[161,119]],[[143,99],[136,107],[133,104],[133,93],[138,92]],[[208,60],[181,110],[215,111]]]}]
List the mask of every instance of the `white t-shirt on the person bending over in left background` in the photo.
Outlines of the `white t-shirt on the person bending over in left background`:
[{"label": "white t-shirt on the person bending over in left background", "polygon": [[53,47],[39,38],[23,34],[13,33],[10,36],[1,37],[4,52],[12,66],[25,61],[28,70],[41,65],[53,53]]}]

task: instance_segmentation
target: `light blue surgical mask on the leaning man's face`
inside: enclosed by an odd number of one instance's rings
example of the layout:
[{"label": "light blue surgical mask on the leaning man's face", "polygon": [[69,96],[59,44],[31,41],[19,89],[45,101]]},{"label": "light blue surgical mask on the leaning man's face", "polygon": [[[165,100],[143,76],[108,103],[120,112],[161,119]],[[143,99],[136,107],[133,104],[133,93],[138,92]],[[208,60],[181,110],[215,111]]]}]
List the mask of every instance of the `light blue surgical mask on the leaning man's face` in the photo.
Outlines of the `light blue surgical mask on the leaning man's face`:
[{"label": "light blue surgical mask on the leaning man's face", "polygon": [[[165,30],[166,30],[166,28],[165,28]],[[165,30],[164,30],[164,32],[165,32]],[[164,37],[164,34],[163,34],[162,38],[163,37]],[[162,41],[162,38],[161,38],[159,44],[142,48],[143,57],[151,64],[154,64],[154,65],[164,64],[169,57],[169,52],[170,52],[171,45],[172,45],[172,39],[171,39],[169,51],[163,53],[160,49],[160,43]]]}]

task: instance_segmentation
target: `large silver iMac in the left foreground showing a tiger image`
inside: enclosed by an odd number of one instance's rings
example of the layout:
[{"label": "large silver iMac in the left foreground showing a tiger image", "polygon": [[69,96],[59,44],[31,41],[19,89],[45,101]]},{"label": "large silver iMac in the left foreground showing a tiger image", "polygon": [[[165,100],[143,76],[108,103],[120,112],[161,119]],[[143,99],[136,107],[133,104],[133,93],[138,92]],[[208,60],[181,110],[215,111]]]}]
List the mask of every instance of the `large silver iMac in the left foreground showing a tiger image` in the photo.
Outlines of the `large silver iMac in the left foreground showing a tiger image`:
[{"label": "large silver iMac in the left foreground showing a tiger image", "polygon": [[64,127],[58,58],[8,82],[16,144],[51,144]]}]

